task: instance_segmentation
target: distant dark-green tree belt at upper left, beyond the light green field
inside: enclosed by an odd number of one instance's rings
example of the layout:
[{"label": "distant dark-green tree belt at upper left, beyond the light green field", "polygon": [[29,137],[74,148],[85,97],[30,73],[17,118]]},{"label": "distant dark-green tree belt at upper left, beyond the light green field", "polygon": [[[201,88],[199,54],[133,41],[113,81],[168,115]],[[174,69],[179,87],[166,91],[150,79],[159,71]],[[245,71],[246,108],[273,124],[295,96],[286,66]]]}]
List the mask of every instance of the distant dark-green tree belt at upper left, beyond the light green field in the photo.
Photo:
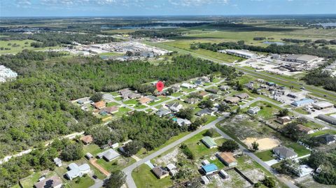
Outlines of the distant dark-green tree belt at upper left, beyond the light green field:
[{"label": "distant dark-green tree belt at upper left, beyond the light green field", "polygon": [[[7,34],[6,34],[7,35]],[[50,47],[57,45],[71,45],[73,42],[81,44],[92,43],[111,43],[120,41],[111,36],[97,36],[96,34],[76,34],[66,32],[41,32],[38,34],[10,34],[10,36],[1,37],[1,41],[10,40],[34,40],[30,45],[34,48]]]}]

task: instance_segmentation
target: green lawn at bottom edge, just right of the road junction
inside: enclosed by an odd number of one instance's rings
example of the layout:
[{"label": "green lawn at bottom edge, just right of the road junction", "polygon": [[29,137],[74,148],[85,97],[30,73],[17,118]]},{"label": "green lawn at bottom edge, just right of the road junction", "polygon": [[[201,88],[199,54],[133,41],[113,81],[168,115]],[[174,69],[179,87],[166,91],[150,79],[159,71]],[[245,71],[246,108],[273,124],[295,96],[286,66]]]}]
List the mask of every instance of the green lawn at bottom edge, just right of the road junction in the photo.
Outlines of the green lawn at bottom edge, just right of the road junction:
[{"label": "green lawn at bottom edge, just right of the road junction", "polygon": [[171,177],[168,176],[163,179],[158,179],[156,176],[152,173],[151,168],[149,168],[148,165],[142,164],[138,168],[135,168],[132,172],[132,178],[134,179],[135,184],[139,188],[145,188],[145,187],[172,187],[173,182],[170,179]]}]

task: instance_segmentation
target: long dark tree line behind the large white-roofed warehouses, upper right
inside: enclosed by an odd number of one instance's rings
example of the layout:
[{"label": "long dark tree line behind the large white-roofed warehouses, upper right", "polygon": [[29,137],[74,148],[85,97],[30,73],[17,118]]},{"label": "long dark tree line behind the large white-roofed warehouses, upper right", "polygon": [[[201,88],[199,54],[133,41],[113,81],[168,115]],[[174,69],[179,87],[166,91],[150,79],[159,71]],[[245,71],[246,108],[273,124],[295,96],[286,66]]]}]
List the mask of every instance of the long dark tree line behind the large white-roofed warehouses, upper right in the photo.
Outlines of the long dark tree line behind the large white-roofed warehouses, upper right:
[{"label": "long dark tree line behind the large white-roofed warehouses, upper right", "polygon": [[202,48],[217,52],[218,50],[236,49],[236,50],[251,50],[255,52],[267,52],[274,54],[306,54],[316,55],[318,57],[332,58],[336,57],[336,50],[327,47],[318,48],[316,45],[276,45],[271,44],[267,47],[246,45],[244,41],[223,42],[223,43],[193,43],[190,45],[191,49]]}]

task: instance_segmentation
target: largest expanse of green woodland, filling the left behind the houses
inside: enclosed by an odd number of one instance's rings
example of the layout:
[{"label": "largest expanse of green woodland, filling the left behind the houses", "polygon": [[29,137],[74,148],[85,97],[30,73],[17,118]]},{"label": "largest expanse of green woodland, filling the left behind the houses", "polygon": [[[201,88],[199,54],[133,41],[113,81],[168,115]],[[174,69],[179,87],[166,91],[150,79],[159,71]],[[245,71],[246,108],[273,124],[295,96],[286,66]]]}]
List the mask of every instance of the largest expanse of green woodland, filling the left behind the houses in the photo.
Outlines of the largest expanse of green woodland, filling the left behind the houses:
[{"label": "largest expanse of green woodland, filling the left behind the houses", "polygon": [[92,115],[71,105],[71,99],[125,87],[137,88],[153,80],[165,80],[165,84],[170,85],[214,72],[225,76],[235,74],[235,68],[190,55],[174,57],[172,63],[160,66],[141,61],[59,56],[55,52],[25,50],[18,55],[0,57],[0,64],[20,75],[16,80],[0,85],[2,157],[25,150],[39,141],[87,130],[99,123]]}]

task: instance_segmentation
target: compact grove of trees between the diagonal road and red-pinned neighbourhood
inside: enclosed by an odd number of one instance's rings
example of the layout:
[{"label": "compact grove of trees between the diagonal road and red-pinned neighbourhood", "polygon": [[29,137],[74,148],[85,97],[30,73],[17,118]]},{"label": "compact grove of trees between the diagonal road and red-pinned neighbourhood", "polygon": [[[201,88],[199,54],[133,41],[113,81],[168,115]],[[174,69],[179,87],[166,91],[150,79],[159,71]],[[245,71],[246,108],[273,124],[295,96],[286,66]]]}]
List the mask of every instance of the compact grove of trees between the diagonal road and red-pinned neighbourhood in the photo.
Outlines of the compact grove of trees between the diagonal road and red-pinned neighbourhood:
[{"label": "compact grove of trees between the diagonal road and red-pinned neighbourhood", "polygon": [[109,124],[113,131],[118,131],[123,140],[139,140],[144,143],[146,150],[153,150],[164,144],[172,136],[186,131],[173,120],[162,119],[157,115],[148,115],[144,112],[134,112],[120,120]]}]

